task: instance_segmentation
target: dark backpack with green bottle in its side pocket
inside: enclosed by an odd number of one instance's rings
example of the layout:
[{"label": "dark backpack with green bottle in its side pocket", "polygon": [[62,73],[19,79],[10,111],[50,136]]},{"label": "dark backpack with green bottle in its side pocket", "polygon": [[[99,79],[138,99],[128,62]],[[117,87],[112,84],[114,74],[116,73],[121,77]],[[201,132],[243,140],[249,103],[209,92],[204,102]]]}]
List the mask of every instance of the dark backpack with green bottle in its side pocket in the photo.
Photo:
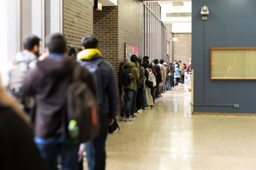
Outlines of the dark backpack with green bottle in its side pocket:
[{"label": "dark backpack with green bottle in its side pocket", "polygon": [[100,130],[99,108],[96,96],[86,83],[80,79],[82,69],[77,63],[73,71],[73,81],[66,96],[67,119],[75,120],[79,126],[79,142],[83,143],[97,137]]}]

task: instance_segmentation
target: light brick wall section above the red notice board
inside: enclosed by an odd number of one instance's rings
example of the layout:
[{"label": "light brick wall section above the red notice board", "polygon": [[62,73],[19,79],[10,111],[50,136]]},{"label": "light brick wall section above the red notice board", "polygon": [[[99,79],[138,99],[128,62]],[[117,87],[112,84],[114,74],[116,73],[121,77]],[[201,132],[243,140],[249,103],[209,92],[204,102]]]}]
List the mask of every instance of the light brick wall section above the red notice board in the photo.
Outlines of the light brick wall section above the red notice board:
[{"label": "light brick wall section above the red notice board", "polygon": [[[118,0],[118,61],[124,61],[125,42],[139,46],[142,55],[142,2]],[[139,57],[138,56],[138,57]]]}]

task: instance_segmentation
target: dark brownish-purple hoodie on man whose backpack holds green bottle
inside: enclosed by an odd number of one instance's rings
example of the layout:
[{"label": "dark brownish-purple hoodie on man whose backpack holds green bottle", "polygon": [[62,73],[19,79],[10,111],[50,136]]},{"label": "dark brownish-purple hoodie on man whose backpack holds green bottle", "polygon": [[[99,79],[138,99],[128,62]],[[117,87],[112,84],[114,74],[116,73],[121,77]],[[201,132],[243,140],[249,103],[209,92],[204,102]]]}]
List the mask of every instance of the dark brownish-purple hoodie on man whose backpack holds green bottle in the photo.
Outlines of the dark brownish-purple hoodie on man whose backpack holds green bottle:
[{"label": "dark brownish-purple hoodie on man whose backpack holds green bottle", "polygon": [[[66,113],[66,90],[77,66],[76,61],[58,55],[58,58],[37,62],[36,67],[26,74],[22,88],[25,95],[35,96],[35,136],[46,140],[58,138],[63,132],[61,125],[62,115]],[[81,80],[95,93],[92,74],[83,67],[81,69]]]}]

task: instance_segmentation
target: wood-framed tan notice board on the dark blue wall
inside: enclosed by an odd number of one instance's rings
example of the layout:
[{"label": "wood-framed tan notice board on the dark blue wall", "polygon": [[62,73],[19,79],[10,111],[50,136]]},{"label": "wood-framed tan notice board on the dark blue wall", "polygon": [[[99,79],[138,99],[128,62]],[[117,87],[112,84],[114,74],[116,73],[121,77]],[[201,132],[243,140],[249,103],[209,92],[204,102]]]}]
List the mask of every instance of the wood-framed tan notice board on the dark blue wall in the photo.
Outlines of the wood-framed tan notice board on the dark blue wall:
[{"label": "wood-framed tan notice board on the dark blue wall", "polygon": [[256,80],[256,47],[210,48],[211,80]]}]

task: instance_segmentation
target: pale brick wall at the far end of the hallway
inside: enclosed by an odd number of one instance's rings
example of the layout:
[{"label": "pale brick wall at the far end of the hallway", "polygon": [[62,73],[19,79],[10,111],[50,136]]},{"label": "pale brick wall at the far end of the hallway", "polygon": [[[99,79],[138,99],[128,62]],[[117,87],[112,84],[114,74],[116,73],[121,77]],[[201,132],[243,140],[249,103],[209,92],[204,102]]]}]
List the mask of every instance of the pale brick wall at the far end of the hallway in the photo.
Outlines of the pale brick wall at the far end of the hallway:
[{"label": "pale brick wall at the far end of the hallway", "polygon": [[173,61],[181,60],[182,63],[188,64],[191,57],[191,33],[176,33],[176,38],[178,41],[172,42]]}]

